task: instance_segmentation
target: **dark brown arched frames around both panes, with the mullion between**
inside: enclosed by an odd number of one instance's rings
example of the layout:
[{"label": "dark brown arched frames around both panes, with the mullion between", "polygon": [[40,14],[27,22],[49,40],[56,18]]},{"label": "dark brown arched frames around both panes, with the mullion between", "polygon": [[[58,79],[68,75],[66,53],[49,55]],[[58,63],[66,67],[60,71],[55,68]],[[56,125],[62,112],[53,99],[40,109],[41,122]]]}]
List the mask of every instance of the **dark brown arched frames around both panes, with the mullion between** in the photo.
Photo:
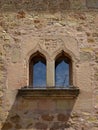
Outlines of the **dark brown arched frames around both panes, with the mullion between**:
[{"label": "dark brown arched frames around both panes, with the mullion between", "polygon": [[[32,74],[32,58],[34,58],[37,55],[41,55],[45,60],[46,60],[46,88],[52,88],[55,87],[55,61],[56,59],[63,54],[63,57],[68,58],[69,60],[69,86],[73,85],[73,65],[72,65],[72,58],[69,54],[67,54],[64,50],[60,51],[53,60],[47,59],[47,57],[40,51],[36,51],[33,53],[30,58],[29,58],[29,86],[33,88],[32,85],[32,79],[33,79],[33,74]],[[63,86],[62,86],[63,87]]]}]

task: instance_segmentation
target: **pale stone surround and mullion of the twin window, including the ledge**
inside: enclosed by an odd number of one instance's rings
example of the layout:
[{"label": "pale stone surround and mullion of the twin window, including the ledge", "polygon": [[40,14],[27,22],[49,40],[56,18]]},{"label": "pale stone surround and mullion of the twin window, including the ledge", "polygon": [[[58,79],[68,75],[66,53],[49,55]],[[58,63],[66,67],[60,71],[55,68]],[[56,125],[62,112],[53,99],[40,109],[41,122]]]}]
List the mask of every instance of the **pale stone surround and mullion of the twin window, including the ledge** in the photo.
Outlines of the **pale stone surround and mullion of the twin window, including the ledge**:
[{"label": "pale stone surround and mullion of the twin window, including the ledge", "polygon": [[[29,86],[29,62],[30,58],[33,56],[33,54],[36,54],[37,52],[41,53],[46,58],[46,88],[33,88],[32,86]],[[68,58],[71,59],[71,78],[70,78],[70,86],[64,87],[64,88],[56,88],[55,87],[55,59],[56,57],[64,53]],[[19,89],[19,95],[24,98],[33,98],[33,99],[74,99],[77,98],[80,90],[78,87],[76,87],[76,69],[75,64],[77,62],[77,58],[75,59],[75,56],[73,53],[71,53],[67,49],[59,49],[55,51],[52,55],[49,55],[48,52],[40,48],[39,46],[36,46],[33,50],[31,50],[28,53],[28,57],[26,59],[27,61],[27,86],[23,86],[21,89]],[[50,78],[51,77],[51,78]]]}]

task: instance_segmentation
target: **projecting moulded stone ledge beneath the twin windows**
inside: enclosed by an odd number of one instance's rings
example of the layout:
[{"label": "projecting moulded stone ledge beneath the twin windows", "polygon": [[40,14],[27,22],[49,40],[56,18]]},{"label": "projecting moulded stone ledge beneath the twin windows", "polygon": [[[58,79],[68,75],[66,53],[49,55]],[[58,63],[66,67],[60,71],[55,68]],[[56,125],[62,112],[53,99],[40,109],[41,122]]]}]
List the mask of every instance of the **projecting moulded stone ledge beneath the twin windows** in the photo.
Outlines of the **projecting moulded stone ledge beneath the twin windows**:
[{"label": "projecting moulded stone ledge beneath the twin windows", "polygon": [[62,99],[74,99],[79,95],[79,88],[77,87],[67,87],[67,88],[32,88],[32,87],[23,87],[18,90],[19,96],[24,98],[62,98]]}]

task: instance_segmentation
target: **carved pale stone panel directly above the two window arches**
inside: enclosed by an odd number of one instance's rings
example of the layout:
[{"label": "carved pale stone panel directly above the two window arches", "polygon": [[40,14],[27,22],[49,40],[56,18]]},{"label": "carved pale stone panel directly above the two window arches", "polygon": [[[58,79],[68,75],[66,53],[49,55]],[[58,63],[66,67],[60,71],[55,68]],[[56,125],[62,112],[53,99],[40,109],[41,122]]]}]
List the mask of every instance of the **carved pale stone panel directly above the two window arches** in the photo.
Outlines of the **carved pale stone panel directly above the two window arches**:
[{"label": "carved pale stone panel directly above the two window arches", "polygon": [[37,51],[45,55],[48,61],[54,60],[55,56],[61,51],[69,54],[72,60],[79,60],[78,42],[71,36],[49,35],[41,37],[36,46],[28,52],[27,61],[29,57]]}]

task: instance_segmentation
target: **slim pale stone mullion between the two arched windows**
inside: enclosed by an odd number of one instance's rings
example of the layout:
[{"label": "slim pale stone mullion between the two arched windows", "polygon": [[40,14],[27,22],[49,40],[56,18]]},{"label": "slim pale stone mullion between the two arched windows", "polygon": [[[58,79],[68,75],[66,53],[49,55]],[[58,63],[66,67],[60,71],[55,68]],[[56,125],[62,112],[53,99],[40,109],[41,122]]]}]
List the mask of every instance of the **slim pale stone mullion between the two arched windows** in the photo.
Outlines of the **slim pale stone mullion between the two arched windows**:
[{"label": "slim pale stone mullion between the two arched windows", "polygon": [[55,86],[55,62],[47,61],[47,87]]}]

